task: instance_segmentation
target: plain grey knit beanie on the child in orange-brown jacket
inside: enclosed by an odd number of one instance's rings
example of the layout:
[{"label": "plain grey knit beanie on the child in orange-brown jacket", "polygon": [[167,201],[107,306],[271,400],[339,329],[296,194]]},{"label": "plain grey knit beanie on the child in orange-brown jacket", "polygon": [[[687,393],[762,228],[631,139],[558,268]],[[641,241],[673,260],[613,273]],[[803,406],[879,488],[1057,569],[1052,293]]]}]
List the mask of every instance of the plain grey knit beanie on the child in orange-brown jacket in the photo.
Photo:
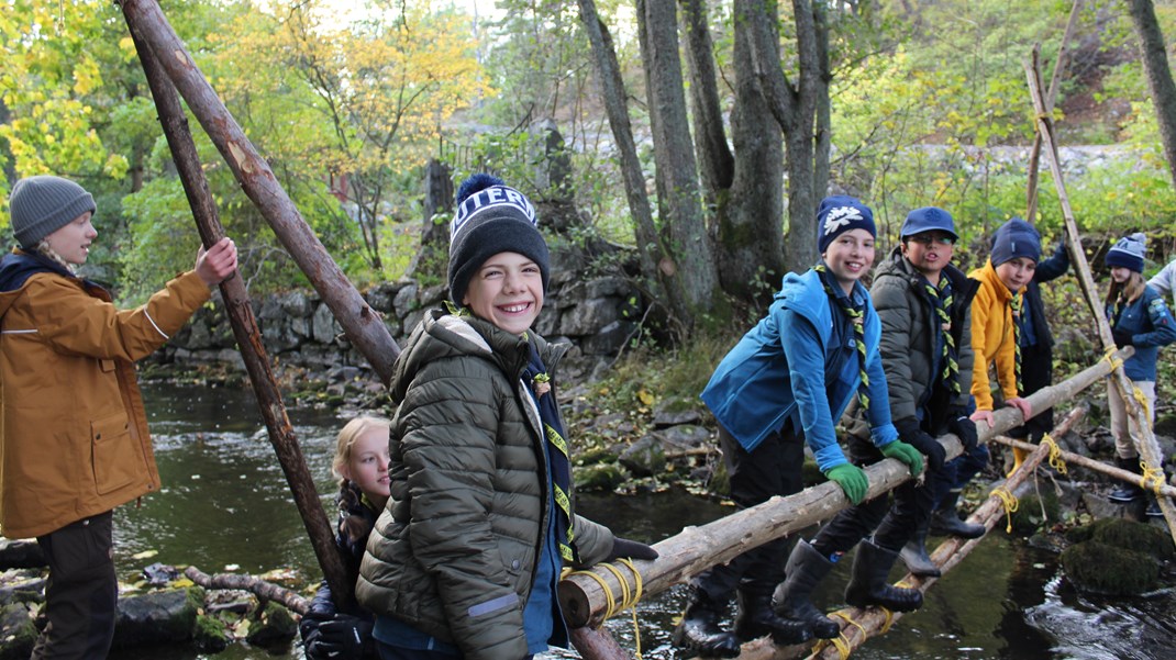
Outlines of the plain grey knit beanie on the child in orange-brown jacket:
[{"label": "plain grey knit beanie on the child in orange-brown jacket", "polygon": [[94,196],[68,179],[39,175],[21,179],[8,197],[12,233],[25,249],[33,249],[49,234],[81,214],[94,213]]}]

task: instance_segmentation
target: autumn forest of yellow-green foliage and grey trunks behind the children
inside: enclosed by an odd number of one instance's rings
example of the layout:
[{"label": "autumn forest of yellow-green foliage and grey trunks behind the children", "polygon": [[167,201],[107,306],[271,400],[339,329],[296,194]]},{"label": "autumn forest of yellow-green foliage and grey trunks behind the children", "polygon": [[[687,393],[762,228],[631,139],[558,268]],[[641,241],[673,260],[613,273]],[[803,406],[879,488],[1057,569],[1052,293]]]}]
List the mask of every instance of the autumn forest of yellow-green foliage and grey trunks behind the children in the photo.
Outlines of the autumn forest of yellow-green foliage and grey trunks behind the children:
[{"label": "autumn forest of yellow-green foliage and grey trunks behind the children", "polygon": [[[141,301],[191,268],[199,238],[121,12],[108,0],[0,2],[0,194],[45,173],[92,190],[99,240],[87,275],[123,303]],[[1176,194],[1132,5],[1151,4],[1083,2],[1053,120],[1061,146],[1102,154],[1067,179],[1093,262],[1109,240],[1144,231],[1150,272],[1176,251]],[[873,206],[880,260],[906,213],[934,204],[965,238],[958,265],[983,262],[991,230],[1025,214],[1035,116],[1022,61],[1040,43],[1049,81],[1071,9],[1062,0],[161,6],[361,289],[405,276],[420,251],[430,159],[456,180],[486,167],[537,200],[552,196],[536,176],[532,129],[554,122],[572,166],[560,194],[580,209],[560,240],[634,248],[640,268],[627,276],[660,311],[629,369],[641,372],[643,351],[688,357],[663,364],[696,372],[670,370],[664,385],[691,398],[782,272],[813,263],[809,218],[827,191]],[[1163,34],[1176,35],[1176,4],[1154,9]],[[306,287],[211,141],[194,134],[250,294]],[[1040,190],[1033,220],[1048,254],[1062,227],[1048,170]],[[1082,341],[1093,323],[1070,304],[1081,299],[1075,282],[1047,297],[1073,339],[1058,353],[1064,375],[1093,355]],[[1162,362],[1161,382],[1171,383],[1171,361]],[[649,377],[620,382],[643,388]]]}]

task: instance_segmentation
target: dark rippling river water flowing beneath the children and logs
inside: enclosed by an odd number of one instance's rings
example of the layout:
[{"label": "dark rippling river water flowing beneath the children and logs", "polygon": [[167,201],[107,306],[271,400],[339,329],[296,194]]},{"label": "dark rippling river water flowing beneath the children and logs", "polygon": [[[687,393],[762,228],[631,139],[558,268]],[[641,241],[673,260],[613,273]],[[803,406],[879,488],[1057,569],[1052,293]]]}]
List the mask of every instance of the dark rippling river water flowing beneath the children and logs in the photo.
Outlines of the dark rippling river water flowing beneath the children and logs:
[{"label": "dark rippling river water flowing beneath the children and logs", "polygon": [[[192,564],[206,573],[293,570],[300,585],[316,584],[314,552],[252,395],[145,384],[143,396],[163,489],[145,497],[140,506],[118,510],[120,580],[138,581],[145,566],[161,561]],[[336,491],[330,456],[346,418],[306,408],[292,409],[289,417],[329,507]],[[577,505],[580,513],[648,543],[731,512],[677,490],[635,497],[581,496]],[[816,594],[818,606],[831,611],[841,605],[840,591],[848,574],[848,561],[843,561]],[[898,579],[897,571],[891,578]],[[684,598],[686,588],[677,586],[637,606],[643,658],[679,656],[669,637]],[[623,647],[636,648],[628,612],[607,625]],[[115,651],[111,658],[261,660],[300,659],[302,653],[296,642],[276,652],[235,644],[215,655],[178,646]],[[550,658],[576,655],[552,653]],[[1105,601],[1080,597],[1060,578],[1054,554],[996,531],[931,587],[922,610],[903,617],[888,634],[869,640],[854,658],[1176,660],[1176,594]]]}]

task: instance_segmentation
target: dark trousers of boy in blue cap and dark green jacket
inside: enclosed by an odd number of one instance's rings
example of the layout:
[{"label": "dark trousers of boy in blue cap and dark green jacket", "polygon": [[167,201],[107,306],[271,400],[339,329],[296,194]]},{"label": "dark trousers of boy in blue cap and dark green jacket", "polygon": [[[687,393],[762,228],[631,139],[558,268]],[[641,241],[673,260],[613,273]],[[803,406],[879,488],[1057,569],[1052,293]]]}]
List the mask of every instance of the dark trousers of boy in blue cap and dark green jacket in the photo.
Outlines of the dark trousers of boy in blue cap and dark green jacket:
[{"label": "dark trousers of boy in blue cap and dark green jacket", "polygon": [[[847,445],[849,460],[854,465],[864,467],[883,458],[874,443],[856,436],[850,436]],[[942,477],[938,472],[929,471],[924,484],[910,479],[894,489],[893,501],[883,493],[838,511],[817,532],[813,539],[813,547],[822,557],[831,557],[834,553],[848,552],[857,545],[857,541],[874,532],[876,545],[898,552],[910,540],[918,524],[930,519],[935,504],[933,485],[936,478]]]}]

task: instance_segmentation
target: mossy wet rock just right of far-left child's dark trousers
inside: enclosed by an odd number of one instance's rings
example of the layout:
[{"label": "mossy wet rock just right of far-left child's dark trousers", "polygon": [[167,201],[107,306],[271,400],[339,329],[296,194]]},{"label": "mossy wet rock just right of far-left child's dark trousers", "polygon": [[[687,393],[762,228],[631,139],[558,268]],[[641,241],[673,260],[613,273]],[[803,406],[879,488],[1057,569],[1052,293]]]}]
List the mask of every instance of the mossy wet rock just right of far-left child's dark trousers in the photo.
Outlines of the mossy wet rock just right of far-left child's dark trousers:
[{"label": "mossy wet rock just right of far-left child's dark trousers", "polygon": [[119,599],[114,647],[149,646],[192,638],[202,590],[165,590]]}]

